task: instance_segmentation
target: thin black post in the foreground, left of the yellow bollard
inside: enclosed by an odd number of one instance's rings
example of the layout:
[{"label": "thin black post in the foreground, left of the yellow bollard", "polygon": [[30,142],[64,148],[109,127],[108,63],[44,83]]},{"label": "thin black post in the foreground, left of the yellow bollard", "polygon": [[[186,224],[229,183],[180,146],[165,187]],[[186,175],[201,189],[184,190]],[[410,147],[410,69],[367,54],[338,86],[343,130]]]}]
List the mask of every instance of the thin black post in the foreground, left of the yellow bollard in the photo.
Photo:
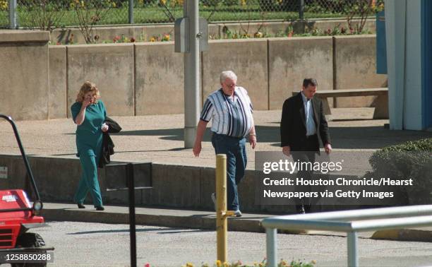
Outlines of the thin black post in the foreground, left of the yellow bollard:
[{"label": "thin black post in the foreground, left of the yellow bollard", "polygon": [[133,165],[126,165],[126,178],[129,189],[129,232],[131,235],[131,267],[136,267],[136,222],[135,222],[135,184],[133,182]]}]

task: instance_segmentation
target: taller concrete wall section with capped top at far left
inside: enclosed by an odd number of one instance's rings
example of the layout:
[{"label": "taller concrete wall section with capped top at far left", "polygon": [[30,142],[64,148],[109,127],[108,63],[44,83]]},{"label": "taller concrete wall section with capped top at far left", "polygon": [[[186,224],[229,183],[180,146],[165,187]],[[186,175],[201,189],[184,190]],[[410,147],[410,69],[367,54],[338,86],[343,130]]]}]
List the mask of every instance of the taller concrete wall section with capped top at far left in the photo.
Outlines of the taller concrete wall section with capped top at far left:
[{"label": "taller concrete wall section with capped top at far left", "polygon": [[0,113],[48,119],[49,32],[0,30]]}]

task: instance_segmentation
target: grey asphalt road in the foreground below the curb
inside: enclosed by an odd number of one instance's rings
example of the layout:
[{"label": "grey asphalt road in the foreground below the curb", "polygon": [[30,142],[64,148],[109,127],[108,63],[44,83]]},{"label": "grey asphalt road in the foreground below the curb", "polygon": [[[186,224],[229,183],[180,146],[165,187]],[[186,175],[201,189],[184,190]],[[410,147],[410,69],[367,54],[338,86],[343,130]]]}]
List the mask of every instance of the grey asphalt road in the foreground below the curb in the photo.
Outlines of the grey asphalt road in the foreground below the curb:
[{"label": "grey asphalt road in the foreground below the curb", "polygon": [[[55,247],[49,266],[129,266],[128,225],[49,222],[39,232]],[[210,230],[137,226],[138,266],[212,266],[216,234]],[[277,235],[278,256],[291,261],[316,260],[316,266],[347,266],[347,239],[326,235]],[[229,232],[229,261],[253,266],[265,257],[265,234]],[[360,238],[360,266],[432,266],[432,243]]]}]

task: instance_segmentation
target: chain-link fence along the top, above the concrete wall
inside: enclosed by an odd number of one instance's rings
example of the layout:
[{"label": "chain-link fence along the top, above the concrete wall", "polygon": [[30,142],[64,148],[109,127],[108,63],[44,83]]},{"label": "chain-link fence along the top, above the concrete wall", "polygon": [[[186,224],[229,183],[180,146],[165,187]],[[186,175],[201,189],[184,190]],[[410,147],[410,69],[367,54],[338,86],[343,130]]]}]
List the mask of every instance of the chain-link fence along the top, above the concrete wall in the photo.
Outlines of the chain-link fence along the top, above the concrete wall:
[{"label": "chain-link fence along the top, above the concrete wall", "polygon": [[[16,1],[20,28],[49,30],[80,25],[172,23],[183,16],[184,0],[0,0],[0,27],[9,27],[9,1]],[[297,20],[346,16],[349,8],[378,0],[199,0],[200,16],[214,21]]]}]

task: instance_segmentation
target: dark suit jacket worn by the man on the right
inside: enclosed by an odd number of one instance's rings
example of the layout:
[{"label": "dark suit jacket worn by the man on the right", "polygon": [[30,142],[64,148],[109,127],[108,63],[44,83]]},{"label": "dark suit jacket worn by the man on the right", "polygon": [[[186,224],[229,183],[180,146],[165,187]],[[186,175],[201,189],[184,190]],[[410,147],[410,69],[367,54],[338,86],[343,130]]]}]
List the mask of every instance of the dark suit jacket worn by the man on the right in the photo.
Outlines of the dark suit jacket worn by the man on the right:
[{"label": "dark suit jacket worn by the man on the right", "polygon": [[[313,120],[315,121],[316,133],[321,141],[330,143],[330,133],[323,111],[323,102],[318,97],[313,97]],[[290,146],[292,151],[302,151],[306,143],[306,113],[304,112],[301,93],[289,97],[282,108],[282,119],[280,121],[281,146]],[[316,151],[319,152],[320,143],[317,138]]]}]

